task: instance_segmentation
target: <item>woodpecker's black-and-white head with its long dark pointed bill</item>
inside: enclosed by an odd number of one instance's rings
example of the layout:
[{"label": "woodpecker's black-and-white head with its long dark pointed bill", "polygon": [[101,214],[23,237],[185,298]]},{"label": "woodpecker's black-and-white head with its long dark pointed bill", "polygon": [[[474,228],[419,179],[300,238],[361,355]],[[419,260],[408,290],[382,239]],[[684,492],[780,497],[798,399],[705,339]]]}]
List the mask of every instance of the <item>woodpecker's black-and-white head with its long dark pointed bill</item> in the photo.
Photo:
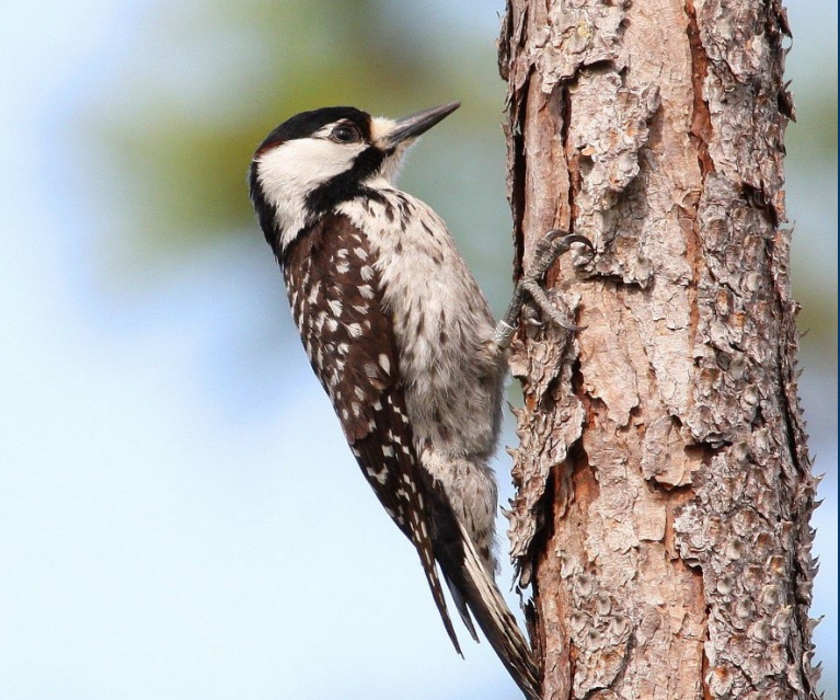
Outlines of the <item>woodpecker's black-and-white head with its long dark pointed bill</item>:
[{"label": "woodpecker's black-and-white head with its long dark pointed bill", "polygon": [[460,104],[402,119],[371,117],[355,107],[324,107],[280,124],[256,149],[249,177],[268,242],[281,250],[321,214],[390,184],[407,147]]}]

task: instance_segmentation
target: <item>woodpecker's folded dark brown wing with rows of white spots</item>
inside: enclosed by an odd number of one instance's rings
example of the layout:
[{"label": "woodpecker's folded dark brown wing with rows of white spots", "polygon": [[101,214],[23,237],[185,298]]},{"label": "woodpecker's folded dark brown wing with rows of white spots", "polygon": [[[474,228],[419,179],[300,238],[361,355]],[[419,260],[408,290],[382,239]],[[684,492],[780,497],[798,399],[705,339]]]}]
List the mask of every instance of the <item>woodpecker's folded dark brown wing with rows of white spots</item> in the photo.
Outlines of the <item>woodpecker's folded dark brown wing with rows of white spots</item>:
[{"label": "woodpecker's folded dark brown wing with rows of white spots", "polygon": [[375,252],[349,219],[330,215],[302,233],[281,263],[312,368],[368,483],[416,547],[444,626],[461,654],[435,564],[430,504],[424,496]]}]

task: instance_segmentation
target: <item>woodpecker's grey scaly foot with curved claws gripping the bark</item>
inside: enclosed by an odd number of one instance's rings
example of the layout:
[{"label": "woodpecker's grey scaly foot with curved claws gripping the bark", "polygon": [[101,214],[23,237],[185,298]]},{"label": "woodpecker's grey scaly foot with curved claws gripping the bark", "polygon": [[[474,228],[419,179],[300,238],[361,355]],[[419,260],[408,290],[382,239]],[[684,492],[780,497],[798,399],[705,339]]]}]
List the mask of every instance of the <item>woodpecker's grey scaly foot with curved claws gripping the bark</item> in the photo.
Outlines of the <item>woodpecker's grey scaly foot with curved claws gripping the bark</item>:
[{"label": "woodpecker's grey scaly foot with curved claws gripping the bark", "polygon": [[519,323],[519,315],[522,313],[522,307],[525,307],[529,299],[537,305],[546,319],[553,321],[557,325],[567,331],[583,330],[584,326],[575,325],[561,315],[560,311],[557,311],[554,305],[550,301],[549,296],[545,294],[545,289],[542,287],[542,278],[545,273],[554,264],[554,261],[557,260],[557,257],[572,248],[572,243],[582,243],[590,251],[595,250],[591,241],[585,236],[578,233],[565,233],[557,229],[549,231],[542,240],[537,243],[537,251],[534,252],[531,267],[522,275],[522,278],[516,285],[510,306],[504,318],[496,325],[494,341],[499,349],[507,349],[510,346],[510,341],[513,340],[514,333],[516,333],[516,326]]}]

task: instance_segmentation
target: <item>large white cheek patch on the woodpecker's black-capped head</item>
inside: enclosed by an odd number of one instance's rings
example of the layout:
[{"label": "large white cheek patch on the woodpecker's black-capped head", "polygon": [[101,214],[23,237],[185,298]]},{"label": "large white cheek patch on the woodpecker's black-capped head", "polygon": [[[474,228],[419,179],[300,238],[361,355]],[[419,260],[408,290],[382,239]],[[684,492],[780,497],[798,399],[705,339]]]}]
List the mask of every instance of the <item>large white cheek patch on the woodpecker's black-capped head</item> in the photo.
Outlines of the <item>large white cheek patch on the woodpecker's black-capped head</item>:
[{"label": "large white cheek patch on the woodpecker's black-capped head", "polygon": [[286,141],[257,159],[257,179],[266,199],[277,209],[281,243],[290,241],[303,228],[307,195],[349,170],[365,148],[364,144],[301,138]]}]

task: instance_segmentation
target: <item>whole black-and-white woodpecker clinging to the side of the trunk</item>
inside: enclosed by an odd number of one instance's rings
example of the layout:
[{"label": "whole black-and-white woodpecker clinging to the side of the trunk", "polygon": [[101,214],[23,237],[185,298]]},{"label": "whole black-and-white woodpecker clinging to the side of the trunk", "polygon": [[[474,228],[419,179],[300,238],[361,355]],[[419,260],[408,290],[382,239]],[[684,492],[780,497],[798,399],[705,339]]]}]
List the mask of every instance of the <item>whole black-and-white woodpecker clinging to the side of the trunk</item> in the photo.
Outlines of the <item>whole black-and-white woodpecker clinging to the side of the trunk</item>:
[{"label": "whole black-and-white woodpecker clinging to the side of the trunk", "polygon": [[550,232],[505,318],[446,225],[393,185],[406,148],[460,103],[402,119],[354,107],[292,116],[258,146],[251,200],[283,269],[292,317],[363,474],[414,544],[456,651],[438,566],[529,700],[531,649],[495,583],[496,449],[506,351],[526,303],[569,330],[540,279],[583,236]]}]

